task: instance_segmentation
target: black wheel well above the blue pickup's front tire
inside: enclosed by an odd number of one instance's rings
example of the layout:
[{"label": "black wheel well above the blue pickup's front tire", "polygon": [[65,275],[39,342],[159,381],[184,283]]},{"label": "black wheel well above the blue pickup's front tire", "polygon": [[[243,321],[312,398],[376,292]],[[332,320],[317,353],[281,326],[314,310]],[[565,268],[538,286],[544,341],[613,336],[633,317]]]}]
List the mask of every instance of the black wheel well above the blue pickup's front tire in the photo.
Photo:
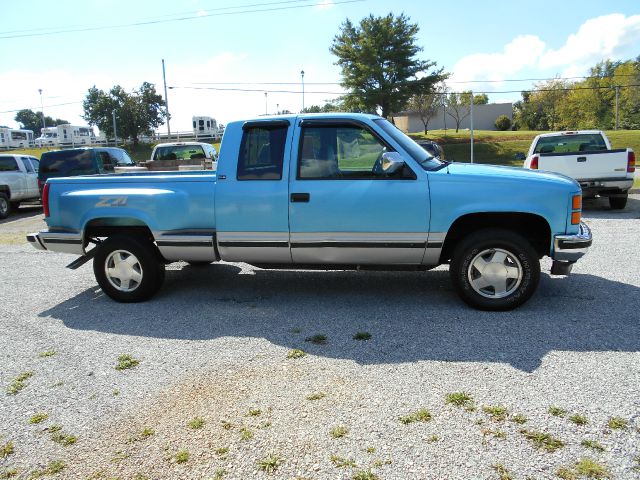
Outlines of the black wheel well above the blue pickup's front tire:
[{"label": "black wheel well above the blue pickup's front tire", "polygon": [[549,254],[551,228],[541,216],[532,213],[472,213],[458,218],[447,232],[442,246],[440,263],[451,259],[458,242],[468,234],[485,228],[503,228],[522,235],[542,258]]}]

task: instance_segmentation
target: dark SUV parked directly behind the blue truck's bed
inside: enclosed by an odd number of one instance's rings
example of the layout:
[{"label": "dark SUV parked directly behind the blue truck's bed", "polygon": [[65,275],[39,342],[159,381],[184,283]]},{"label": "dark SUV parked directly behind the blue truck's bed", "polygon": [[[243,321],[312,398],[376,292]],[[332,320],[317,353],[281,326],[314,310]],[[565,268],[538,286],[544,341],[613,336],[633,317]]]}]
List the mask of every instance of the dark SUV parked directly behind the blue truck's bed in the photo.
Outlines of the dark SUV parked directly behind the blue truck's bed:
[{"label": "dark SUV parked directly behind the blue truck's bed", "polygon": [[45,152],[40,158],[38,187],[40,192],[47,179],[113,173],[115,167],[135,167],[129,154],[114,147],[74,148]]}]

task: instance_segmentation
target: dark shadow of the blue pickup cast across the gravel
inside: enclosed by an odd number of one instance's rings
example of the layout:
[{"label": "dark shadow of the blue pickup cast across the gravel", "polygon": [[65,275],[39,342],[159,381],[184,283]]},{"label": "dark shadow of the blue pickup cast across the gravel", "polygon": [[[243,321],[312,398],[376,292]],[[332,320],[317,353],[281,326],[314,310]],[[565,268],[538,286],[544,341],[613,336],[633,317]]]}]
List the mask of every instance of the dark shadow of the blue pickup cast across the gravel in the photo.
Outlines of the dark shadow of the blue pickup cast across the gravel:
[{"label": "dark shadow of the blue pickup cast across the gravel", "polygon": [[[162,290],[145,303],[116,303],[96,286],[40,316],[74,330],[158,339],[264,338],[359,364],[500,362],[533,372],[553,350],[639,351],[639,293],[593,275],[542,274],[524,306],[480,312],[458,299],[446,270],[296,272],[219,264],[168,270]],[[372,338],[354,340],[357,332]],[[305,341],[316,334],[327,343]]]}]

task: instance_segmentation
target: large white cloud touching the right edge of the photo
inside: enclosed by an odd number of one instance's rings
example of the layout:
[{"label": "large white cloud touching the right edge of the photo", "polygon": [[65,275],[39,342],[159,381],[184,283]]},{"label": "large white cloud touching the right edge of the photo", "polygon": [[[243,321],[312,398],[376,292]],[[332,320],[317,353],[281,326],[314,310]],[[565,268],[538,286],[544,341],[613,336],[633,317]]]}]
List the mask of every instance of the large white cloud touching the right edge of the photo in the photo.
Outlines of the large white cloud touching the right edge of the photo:
[{"label": "large white cloud touching the right edge of the photo", "polygon": [[611,14],[584,22],[557,50],[540,58],[540,68],[582,71],[603,59],[627,59],[637,55],[640,44],[640,15]]}]

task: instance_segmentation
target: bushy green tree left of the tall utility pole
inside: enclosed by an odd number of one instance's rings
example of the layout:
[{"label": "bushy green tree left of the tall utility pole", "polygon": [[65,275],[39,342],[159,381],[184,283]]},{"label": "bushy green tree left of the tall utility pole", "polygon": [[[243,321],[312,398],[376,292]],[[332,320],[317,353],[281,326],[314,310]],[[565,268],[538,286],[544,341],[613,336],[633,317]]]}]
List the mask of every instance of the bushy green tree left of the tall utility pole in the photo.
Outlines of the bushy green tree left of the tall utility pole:
[{"label": "bushy green tree left of the tall utility pole", "polygon": [[134,146],[140,135],[151,134],[154,128],[164,124],[167,117],[162,96],[153,84],[143,82],[142,86],[128,93],[120,85],[108,92],[95,86],[87,92],[82,102],[83,118],[89,125],[97,125],[100,131],[113,136],[112,112],[116,112],[116,129],[121,138],[130,138]]}]

